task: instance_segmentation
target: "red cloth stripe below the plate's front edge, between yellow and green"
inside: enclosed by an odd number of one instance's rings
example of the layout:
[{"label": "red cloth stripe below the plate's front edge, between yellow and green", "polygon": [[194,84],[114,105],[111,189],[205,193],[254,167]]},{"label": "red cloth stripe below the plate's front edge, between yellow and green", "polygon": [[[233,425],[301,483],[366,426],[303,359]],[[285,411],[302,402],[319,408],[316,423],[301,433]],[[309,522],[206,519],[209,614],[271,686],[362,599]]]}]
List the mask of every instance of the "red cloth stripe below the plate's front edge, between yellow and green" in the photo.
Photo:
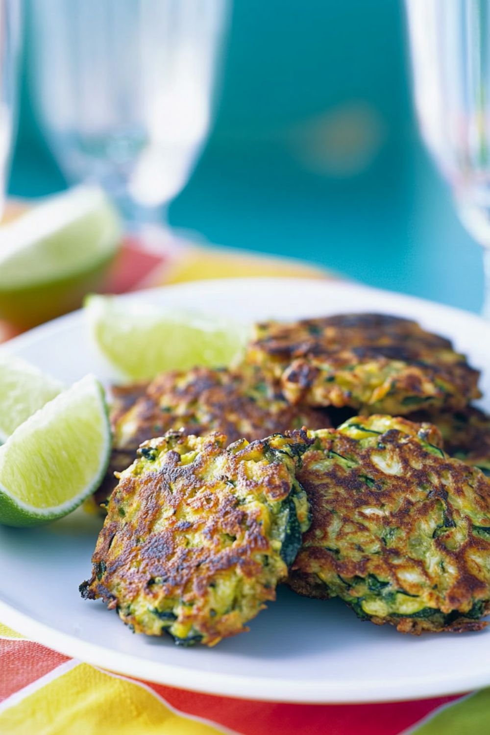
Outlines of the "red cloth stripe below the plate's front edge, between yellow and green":
[{"label": "red cloth stripe below the plate's front edge, between yellow and green", "polygon": [[186,692],[145,682],[181,712],[206,717],[240,735],[399,735],[458,697],[388,704],[284,704]]}]

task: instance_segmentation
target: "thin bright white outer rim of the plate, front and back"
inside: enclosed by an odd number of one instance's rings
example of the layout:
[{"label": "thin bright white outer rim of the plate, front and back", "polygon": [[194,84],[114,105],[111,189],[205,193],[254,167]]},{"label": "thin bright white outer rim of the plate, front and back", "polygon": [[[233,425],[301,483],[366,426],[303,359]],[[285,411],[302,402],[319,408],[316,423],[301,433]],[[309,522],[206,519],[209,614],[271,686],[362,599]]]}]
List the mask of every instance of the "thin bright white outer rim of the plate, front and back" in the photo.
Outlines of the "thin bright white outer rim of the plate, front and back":
[{"label": "thin bright white outer rim of the plate, front and back", "polygon": [[[133,291],[121,295],[117,295],[118,299],[131,301],[134,298],[151,298],[152,294],[168,293],[169,291],[195,290],[196,287],[204,290],[226,289],[226,287],[237,286],[237,282],[242,287],[260,286],[267,288],[268,283],[283,284],[292,287],[308,285],[311,287],[339,290],[345,289],[346,286],[364,293],[370,293],[385,298],[395,298],[398,302],[395,311],[410,311],[410,306],[417,305],[418,308],[428,307],[432,311],[434,309],[453,314],[455,317],[472,320],[475,327],[484,326],[489,329],[487,323],[480,315],[473,312],[467,312],[464,309],[458,309],[454,306],[439,304],[435,301],[419,298],[417,296],[397,293],[396,291],[375,289],[365,284],[356,282],[346,282],[343,280],[311,280],[308,278],[294,277],[250,277],[238,279],[209,279],[205,281],[184,282],[182,284],[172,284],[152,289]],[[373,309],[375,311],[376,309]],[[381,309],[383,310],[383,309]],[[71,329],[77,320],[82,319],[82,309],[77,309],[67,315],[63,315],[57,319],[51,320],[40,326],[31,329],[24,334],[20,334],[0,346],[0,350],[13,347],[13,351],[22,350],[24,347],[33,343],[49,338],[51,334],[59,333],[64,329]],[[461,692],[467,692],[472,689],[479,689],[482,686],[490,684],[490,664],[487,672],[469,672],[466,675],[455,679],[453,672],[449,669],[447,678],[444,675],[438,675],[434,680],[433,675],[419,675],[417,680],[413,675],[405,679],[377,679],[367,681],[365,678],[356,680],[352,679],[348,682],[341,681],[336,686],[334,681],[328,683],[328,691],[325,692],[325,682],[320,684],[315,679],[290,679],[273,677],[261,677],[250,675],[239,675],[233,673],[219,673],[212,670],[195,670],[188,664],[180,666],[179,664],[168,664],[165,661],[151,661],[135,656],[131,653],[124,653],[114,648],[105,648],[98,643],[87,642],[79,639],[76,635],[68,634],[63,631],[57,631],[56,628],[41,623],[29,614],[19,611],[15,606],[10,605],[0,599],[0,620],[2,623],[9,625],[15,630],[20,629],[22,636],[45,645],[47,648],[54,648],[60,653],[70,656],[73,659],[87,662],[96,667],[112,671],[114,673],[140,678],[146,681],[152,681],[157,684],[165,684],[176,688],[187,689],[195,692],[203,692],[209,695],[218,695],[233,697],[237,699],[251,699],[259,701],[276,701],[289,703],[309,703],[309,704],[353,704],[353,703],[381,703],[390,701],[409,701],[417,699],[426,699],[436,696],[453,695]],[[356,692],[354,694],[354,692]],[[405,693],[406,692],[406,693]]]}]

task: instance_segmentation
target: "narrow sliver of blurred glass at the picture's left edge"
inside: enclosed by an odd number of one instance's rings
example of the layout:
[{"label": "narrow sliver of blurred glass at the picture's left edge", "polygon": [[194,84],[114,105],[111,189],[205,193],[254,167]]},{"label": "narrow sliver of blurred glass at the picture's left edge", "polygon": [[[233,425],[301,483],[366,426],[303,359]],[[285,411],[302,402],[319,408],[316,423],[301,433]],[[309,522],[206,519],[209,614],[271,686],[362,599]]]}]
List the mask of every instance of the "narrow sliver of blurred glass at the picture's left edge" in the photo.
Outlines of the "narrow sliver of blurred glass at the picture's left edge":
[{"label": "narrow sliver of blurred glass at the picture's left edge", "polygon": [[19,0],[0,0],[0,217],[16,123],[18,62],[21,47]]}]

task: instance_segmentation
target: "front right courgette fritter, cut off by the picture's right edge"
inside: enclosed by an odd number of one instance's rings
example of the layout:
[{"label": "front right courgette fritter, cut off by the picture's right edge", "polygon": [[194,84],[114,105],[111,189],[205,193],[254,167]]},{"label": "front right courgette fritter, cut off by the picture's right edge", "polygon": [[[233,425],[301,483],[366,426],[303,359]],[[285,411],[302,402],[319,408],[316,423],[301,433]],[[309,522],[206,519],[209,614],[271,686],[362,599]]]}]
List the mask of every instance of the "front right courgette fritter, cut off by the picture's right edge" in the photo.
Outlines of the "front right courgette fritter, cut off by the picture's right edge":
[{"label": "front right courgette fritter, cut off by the picture's right edge", "polygon": [[389,416],[311,431],[311,528],[289,584],[399,631],[475,631],[490,612],[490,479],[439,431]]}]

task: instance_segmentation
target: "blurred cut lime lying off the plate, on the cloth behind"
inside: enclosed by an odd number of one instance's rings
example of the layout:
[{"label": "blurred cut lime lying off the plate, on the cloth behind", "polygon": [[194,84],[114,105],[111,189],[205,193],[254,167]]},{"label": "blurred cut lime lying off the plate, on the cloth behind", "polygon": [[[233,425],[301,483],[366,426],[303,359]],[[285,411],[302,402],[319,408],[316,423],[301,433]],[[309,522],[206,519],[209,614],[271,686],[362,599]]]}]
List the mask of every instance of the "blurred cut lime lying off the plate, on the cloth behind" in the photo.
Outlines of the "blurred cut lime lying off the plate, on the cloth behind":
[{"label": "blurred cut lime lying off the plate, on the cloth behind", "polygon": [[76,187],[0,226],[0,317],[26,329],[82,304],[122,237],[103,190]]}]

